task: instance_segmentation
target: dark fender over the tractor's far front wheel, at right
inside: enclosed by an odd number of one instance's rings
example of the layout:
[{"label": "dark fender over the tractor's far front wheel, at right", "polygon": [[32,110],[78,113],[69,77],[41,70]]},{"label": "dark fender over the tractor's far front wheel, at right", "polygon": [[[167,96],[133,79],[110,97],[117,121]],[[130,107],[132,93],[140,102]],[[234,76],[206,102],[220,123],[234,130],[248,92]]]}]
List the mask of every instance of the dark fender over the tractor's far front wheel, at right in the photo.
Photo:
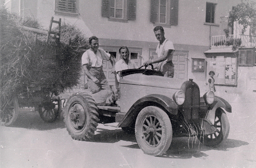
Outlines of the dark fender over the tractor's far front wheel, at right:
[{"label": "dark fender over the tractor's far front wheel, at right", "polygon": [[214,124],[215,120],[215,112],[217,108],[221,108],[224,112],[232,112],[232,107],[230,103],[224,100],[221,97],[215,96],[213,106],[210,106],[210,109],[205,117],[206,120],[210,122],[210,124]]}]

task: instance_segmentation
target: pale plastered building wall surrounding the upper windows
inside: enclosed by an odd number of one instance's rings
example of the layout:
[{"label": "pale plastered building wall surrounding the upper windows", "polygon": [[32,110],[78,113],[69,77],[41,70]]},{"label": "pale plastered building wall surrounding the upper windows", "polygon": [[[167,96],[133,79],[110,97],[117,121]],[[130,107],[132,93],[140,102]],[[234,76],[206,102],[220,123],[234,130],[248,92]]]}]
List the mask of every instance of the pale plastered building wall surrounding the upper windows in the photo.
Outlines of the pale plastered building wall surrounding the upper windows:
[{"label": "pale plastered building wall surrounding the upper windows", "polygon": [[[155,49],[158,40],[156,40],[153,29],[154,24],[150,22],[150,1],[137,0],[136,20],[128,22],[109,21],[101,16],[102,1],[79,1],[77,17],[55,15],[55,1],[52,0],[20,0],[24,2],[22,9],[25,16],[34,16],[38,19],[44,29],[48,29],[50,19],[53,16],[55,20],[62,19],[62,22],[70,22],[84,31],[87,37],[96,35],[100,38],[100,45],[105,47],[127,46],[142,49],[141,63],[149,60],[150,51]],[[19,0],[12,0],[12,9],[18,11],[16,4]],[[14,5],[14,2],[16,4]],[[215,24],[205,24],[206,2],[217,3],[215,11]],[[228,15],[232,6],[240,3],[240,0],[179,0],[178,25],[171,28],[164,28],[165,37],[174,43],[176,51],[188,52],[188,73],[187,79],[194,79],[199,87],[205,87],[207,77],[204,72],[192,72],[192,58],[204,58],[204,52],[210,49],[210,37],[212,35],[224,35],[223,29],[227,22],[223,17]],[[254,68],[254,67],[253,67]],[[238,74],[248,74],[250,68],[238,68]],[[245,77],[246,78],[246,77]],[[243,90],[245,81],[250,80],[239,78],[237,89]],[[219,88],[224,90],[226,87]],[[232,89],[230,89],[232,90]],[[240,91],[239,91],[240,92]]]}]

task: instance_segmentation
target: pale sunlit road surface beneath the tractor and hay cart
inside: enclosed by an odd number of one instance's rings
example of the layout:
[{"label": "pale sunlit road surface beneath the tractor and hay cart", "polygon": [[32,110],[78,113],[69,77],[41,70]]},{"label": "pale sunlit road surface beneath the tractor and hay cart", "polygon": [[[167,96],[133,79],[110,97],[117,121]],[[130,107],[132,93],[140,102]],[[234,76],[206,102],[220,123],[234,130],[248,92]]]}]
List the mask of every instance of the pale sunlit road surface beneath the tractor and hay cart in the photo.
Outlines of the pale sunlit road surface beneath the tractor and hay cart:
[{"label": "pale sunlit road surface beneath the tractor and hay cart", "polygon": [[[256,167],[255,101],[231,103],[231,130],[218,148],[174,138],[164,156],[145,155],[134,135],[100,124],[95,142],[71,139],[63,117],[43,122],[24,108],[12,127],[0,126],[0,167]],[[32,111],[30,111],[32,110]]]}]

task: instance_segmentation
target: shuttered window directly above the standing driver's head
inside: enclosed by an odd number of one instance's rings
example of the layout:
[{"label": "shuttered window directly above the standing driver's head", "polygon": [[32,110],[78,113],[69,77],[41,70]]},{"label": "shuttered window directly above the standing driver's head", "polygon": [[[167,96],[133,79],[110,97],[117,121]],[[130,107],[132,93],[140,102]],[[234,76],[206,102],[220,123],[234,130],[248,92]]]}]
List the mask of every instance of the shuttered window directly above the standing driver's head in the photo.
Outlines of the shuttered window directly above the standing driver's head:
[{"label": "shuttered window directly above the standing driver's head", "polygon": [[154,25],[178,25],[178,0],[151,0],[150,21]]}]

